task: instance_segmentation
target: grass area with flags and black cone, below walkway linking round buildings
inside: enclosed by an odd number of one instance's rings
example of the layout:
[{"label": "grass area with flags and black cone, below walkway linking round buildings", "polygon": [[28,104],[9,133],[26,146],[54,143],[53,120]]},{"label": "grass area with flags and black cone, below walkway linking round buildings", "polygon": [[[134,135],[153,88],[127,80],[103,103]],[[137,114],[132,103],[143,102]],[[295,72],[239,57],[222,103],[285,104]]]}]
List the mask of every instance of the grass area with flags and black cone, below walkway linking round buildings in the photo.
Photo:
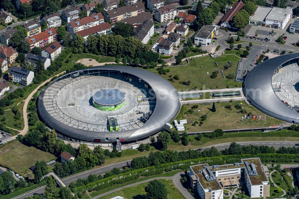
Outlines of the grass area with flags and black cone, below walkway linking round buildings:
[{"label": "grass area with flags and black cone, below walkway linking round buildings", "polygon": [[[278,123],[283,123],[283,121],[276,120],[273,117],[266,117],[266,121],[264,120],[242,120],[242,116],[244,116],[244,113],[239,113],[240,110],[237,110],[234,106],[237,104],[241,104],[242,108],[245,109],[248,113],[256,112],[262,115],[260,111],[258,111],[256,108],[254,108],[251,105],[247,105],[243,101],[239,102],[217,102],[217,99],[215,99],[215,106],[216,106],[216,112],[210,111],[212,108],[212,103],[209,105],[201,105],[197,104],[198,108],[193,109],[193,113],[189,114],[187,111],[191,109],[193,104],[190,105],[182,105],[181,110],[176,117],[176,120],[187,120],[187,125],[185,125],[185,128],[188,132],[191,131],[204,131],[204,130],[214,130],[216,128],[222,128],[222,129],[231,129],[231,128],[249,128],[249,127],[267,127],[272,125],[278,125]],[[232,110],[228,110],[225,108],[225,106],[231,106]],[[192,110],[192,109],[191,109]],[[198,111],[200,110],[200,111]],[[187,113],[187,114],[185,114]],[[200,117],[204,114],[207,114],[207,119],[203,121],[203,124],[199,126],[199,124],[192,126],[192,121],[198,121],[200,120]],[[264,115],[264,114],[263,114]],[[263,116],[264,117],[264,116]]]}]

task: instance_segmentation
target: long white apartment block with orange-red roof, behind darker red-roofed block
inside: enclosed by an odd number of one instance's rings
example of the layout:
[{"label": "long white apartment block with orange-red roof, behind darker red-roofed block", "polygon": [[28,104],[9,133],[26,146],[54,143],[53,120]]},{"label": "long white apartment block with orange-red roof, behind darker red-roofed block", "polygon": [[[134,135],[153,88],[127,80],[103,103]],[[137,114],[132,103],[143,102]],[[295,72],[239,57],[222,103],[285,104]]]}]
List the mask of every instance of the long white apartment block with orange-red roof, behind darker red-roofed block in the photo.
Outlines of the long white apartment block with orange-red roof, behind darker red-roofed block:
[{"label": "long white apartment block with orange-red roof, behind darker red-roofed block", "polygon": [[87,17],[83,17],[82,19],[77,19],[75,21],[69,22],[67,25],[67,30],[69,33],[73,34],[80,30],[84,30],[103,23],[104,16],[102,15],[102,13],[97,13]]}]

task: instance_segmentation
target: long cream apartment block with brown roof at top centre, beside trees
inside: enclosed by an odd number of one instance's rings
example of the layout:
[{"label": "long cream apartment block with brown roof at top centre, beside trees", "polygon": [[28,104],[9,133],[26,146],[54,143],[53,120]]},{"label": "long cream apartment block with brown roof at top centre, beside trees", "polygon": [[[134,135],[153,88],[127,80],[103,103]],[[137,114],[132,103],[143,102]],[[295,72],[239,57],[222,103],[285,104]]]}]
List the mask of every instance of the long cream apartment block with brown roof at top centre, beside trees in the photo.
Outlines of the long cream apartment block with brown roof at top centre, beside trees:
[{"label": "long cream apartment block with brown roof at top centre, beside trees", "polygon": [[123,6],[117,9],[109,10],[104,14],[104,19],[106,22],[111,22],[115,24],[123,19],[137,16],[145,11],[144,4],[138,1],[136,4],[131,4],[128,6]]}]

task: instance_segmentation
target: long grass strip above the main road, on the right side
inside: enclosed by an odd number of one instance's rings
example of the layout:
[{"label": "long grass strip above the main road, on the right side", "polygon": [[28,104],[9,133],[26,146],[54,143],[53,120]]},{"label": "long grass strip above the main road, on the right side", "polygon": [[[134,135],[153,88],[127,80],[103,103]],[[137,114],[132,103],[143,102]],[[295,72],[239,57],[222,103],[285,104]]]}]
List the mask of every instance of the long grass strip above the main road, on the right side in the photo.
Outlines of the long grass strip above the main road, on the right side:
[{"label": "long grass strip above the main road, on the right side", "polygon": [[[236,133],[225,133],[221,137],[213,139],[202,137],[201,140],[197,140],[196,136],[189,136],[190,143],[187,146],[183,146],[181,142],[174,143],[172,140],[168,143],[168,148],[171,150],[187,150],[195,149],[200,147],[211,146],[220,143],[231,143],[231,142],[242,142],[246,140],[251,141],[281,141],[281,140],[292,140],[299,141],[299,135],[296,131],[282,130],[277,132],[263,133],[261,131],[249,131],[249,132],[236,132]],[[224,146],[228,148],[229,146]]]}]

